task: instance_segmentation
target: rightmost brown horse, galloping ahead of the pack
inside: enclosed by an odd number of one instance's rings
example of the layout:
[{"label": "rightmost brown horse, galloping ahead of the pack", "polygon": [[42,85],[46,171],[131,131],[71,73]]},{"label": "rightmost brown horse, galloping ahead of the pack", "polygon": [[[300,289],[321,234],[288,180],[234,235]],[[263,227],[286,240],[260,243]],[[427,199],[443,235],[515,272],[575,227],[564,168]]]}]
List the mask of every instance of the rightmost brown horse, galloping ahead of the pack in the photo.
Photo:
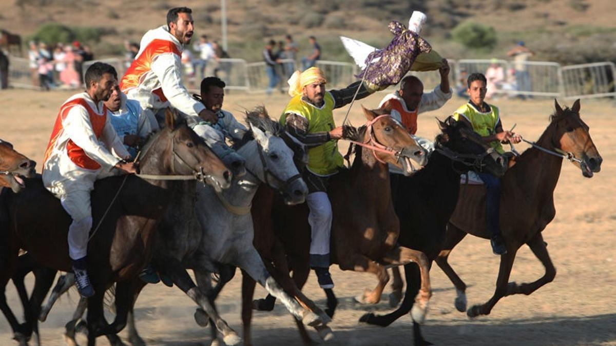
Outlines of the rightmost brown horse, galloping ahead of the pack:
[{"label": "rightmost brown horse, galloping ahead of the pack", "polygon": [[[558,102],[554,103],[556,113],[551,116],[547,129],[532,148],[515,159],[502,179],[500,228],[507,253],[501,255],[494,295],[487,303],[469,308],[469,317],[488,315],[502,297],[521,293],[529,295],[554,280],[556,269],[541,231],[556,215],[554,188],[561,174],[563,156],[575,163],[585,177],[590,178],[593,172],[601,169],[601,156],[588,133],[588,125],[580,118],[580,100],[564,110]],[[455,306],[460,312],[466,310],[466,284],[447,263],[447,257],[467,233],[490,238],[485,222],[485,188],[480,185],[463,185],[461,188],[458,204],[448,223],[445,246],[436,259],[456,287]],[[516,252],[523,244],[527,244],[541,261],[545,275],[532,283],[509,283]]]}]

